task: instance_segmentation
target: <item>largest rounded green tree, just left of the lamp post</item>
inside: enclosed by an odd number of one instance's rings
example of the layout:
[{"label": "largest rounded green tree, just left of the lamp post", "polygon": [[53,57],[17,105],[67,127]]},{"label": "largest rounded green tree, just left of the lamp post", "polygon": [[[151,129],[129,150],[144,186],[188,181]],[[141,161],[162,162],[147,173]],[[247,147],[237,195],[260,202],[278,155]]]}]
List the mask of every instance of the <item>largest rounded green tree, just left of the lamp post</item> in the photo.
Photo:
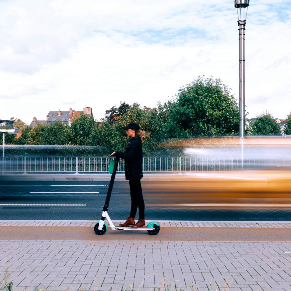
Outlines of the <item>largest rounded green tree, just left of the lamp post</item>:
[{"label": "largest rounded green tree, just left of the lamp post", "polygon": [[165,132],[170,137],[233,135],[239,131],[239,109],[220,79],[198,77],[178,91],[166,106]]}]

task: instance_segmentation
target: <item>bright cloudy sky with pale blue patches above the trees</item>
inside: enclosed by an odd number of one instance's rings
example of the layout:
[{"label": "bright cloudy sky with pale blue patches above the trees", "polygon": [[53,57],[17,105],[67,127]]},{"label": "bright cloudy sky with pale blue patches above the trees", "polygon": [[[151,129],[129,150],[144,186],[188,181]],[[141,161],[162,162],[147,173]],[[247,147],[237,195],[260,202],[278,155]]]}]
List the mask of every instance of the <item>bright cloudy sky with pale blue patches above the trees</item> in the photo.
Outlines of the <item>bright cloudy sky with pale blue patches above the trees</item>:
[{"label": "bright cloudy sky with pale blue patches above the trees", "polygon": [[[226,0],[0,0],[0,118],[120,101],[154,107],[199,75],[238,99],[238,26]],[[291,111],[290,0],[250,0],[246,96],[252,118]]]}]

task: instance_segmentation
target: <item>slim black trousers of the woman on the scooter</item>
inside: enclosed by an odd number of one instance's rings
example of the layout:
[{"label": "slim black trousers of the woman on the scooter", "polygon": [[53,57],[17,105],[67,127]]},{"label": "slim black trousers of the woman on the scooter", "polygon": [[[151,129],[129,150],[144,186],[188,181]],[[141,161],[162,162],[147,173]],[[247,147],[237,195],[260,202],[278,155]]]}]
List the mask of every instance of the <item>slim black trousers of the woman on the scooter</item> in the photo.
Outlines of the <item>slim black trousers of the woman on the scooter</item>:
[{"label": "slim black trousers of the woman on the scooter", "polygon": [[145,203],[141,190],[141,179],[129,180],[131,209],[129,217],[135,217],[137,207],[139,207],[139,219],[145,219]]}]

